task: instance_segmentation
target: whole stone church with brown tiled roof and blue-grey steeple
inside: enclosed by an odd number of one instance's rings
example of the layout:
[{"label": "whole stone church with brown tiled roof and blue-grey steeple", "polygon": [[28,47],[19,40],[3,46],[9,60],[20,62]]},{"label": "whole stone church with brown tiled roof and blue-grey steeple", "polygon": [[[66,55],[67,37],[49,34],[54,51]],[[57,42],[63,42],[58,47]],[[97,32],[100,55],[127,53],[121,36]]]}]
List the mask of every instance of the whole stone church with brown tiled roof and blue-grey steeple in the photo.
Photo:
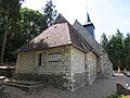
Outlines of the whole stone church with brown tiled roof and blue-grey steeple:
[{"label": "whole stone church with brown tiled roof and blue-grey steeple", "polygon": [[75,90],[92,85],[100,76],[110,77],[113,64],[94,38],[94,25],[70,25],[61,14],[17,52],[15,77],[42,81],[55,87]]}]

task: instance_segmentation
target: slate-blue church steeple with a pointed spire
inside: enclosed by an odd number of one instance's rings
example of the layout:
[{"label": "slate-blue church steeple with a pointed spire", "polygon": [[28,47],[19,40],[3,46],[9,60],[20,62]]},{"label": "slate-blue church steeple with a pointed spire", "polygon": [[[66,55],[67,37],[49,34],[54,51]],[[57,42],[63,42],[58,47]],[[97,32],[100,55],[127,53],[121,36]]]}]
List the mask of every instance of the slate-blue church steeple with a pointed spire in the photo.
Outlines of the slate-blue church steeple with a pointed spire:
[{"label": "slate-blue church steeple with a pointed spire", "polygon": [[92,35],[92,37],[95,39],[94,37],[94,25],[90,20],[89,13],[87,12],[87,23],[83,25],[83,27]]}]

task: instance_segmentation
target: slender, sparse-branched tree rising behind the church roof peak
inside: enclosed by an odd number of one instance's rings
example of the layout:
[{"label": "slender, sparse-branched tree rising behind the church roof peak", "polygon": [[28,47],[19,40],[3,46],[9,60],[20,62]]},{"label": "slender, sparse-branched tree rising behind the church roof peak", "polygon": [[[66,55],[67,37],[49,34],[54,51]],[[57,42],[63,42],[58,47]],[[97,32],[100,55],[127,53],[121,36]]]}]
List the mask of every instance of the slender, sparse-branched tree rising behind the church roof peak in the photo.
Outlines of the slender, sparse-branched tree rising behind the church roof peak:
[{"label": "slender, sparse-branched tree rising behind the church roof peak", "polygon": [[56,16],[57,11],[55,10],[55,5],[53,4],[52,0],[47,1],[44,8],[42,8],[46,21],[49,26],[51,26],[54,17]]}]

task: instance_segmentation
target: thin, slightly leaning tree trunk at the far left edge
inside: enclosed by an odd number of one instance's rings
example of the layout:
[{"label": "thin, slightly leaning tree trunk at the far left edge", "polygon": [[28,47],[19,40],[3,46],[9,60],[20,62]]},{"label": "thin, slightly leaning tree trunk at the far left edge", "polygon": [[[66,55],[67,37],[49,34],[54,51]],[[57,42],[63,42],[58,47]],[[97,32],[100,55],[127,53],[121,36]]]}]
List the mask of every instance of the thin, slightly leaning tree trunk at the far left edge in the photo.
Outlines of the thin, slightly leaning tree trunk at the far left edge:
[{"label": "thin, slightly leaning tree trunk at the far left edge", "polygon": [[0,64],[3,65],[3,57],[4,57],[4,50],[5,50],[5,42],[6,42],[6,35],[8,35],[8,26],[9,26],[9,14],[5,16],[5,33],[4,33],[4,38],[3,38],[3,45],[2,45],[2,50],[1,50],[1,60]]}]

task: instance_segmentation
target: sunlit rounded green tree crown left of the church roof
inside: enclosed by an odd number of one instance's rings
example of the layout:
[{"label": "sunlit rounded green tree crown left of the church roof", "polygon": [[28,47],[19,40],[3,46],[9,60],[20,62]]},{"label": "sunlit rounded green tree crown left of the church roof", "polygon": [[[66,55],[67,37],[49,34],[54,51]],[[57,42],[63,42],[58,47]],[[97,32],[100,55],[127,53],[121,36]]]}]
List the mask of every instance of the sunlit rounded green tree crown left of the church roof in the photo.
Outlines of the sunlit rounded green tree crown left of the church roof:
[{"label": "sunlit rounded green tree crown left of the church roof", "polygon": [[22,20],[22,35],[24,44],[28,42],[34,37],[38,36],[42,30],[48,28],[44,16],[39,11],[23,8],[21,9]]}]

